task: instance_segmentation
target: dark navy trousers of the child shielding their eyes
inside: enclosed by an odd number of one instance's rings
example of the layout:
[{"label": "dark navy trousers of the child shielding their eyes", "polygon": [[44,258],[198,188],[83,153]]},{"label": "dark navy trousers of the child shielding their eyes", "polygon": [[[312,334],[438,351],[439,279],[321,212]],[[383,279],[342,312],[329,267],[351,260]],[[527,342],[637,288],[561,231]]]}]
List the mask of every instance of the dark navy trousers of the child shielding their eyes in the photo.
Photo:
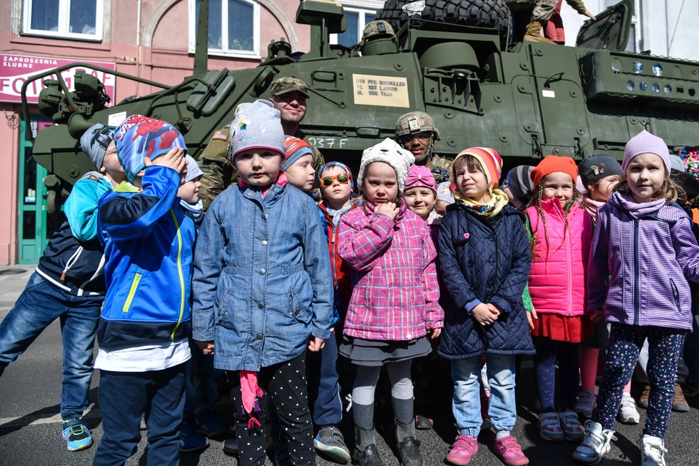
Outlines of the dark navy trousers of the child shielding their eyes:
[{"label": "dark navy trousers of the child shielding their eyes", "polygon": [[146,372],[99,371],[103,435],[92,466],[124,465],[140,442],[140,418],[144,414],[148,428],[147,464],[180,464],[186,365]]}]

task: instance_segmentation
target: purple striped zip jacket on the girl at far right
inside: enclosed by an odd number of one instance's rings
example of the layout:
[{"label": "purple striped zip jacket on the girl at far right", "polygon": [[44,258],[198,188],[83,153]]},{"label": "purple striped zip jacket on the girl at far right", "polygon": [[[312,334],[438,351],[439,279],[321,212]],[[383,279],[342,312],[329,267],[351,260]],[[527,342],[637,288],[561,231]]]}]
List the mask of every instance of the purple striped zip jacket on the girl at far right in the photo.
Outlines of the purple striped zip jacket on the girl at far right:
[{"label": "purple striped zip jacket on the girl at far right", "polygon": [[636,204],[612,193],[597,211],[587,310],[604,308],[607,322],[691,330],[687,280],[699,282],[699,246],[691,224],[677,205]]}]

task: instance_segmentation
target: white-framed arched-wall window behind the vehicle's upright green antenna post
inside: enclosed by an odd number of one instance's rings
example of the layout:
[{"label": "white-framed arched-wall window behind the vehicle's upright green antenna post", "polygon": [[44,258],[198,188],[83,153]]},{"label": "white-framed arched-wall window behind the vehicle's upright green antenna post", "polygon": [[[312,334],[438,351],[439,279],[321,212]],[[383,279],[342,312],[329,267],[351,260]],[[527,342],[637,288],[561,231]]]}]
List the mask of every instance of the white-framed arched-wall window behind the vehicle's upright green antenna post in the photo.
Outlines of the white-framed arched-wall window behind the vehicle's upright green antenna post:
[{"label": "white-framed arched-wall window behind the vehicle's upright green antenna post", "polygon": [[[189,52],[196,48],[201,0],[189,0]],[[260,6],[252,0],[209,1],[209,54],[260,58]]]}]

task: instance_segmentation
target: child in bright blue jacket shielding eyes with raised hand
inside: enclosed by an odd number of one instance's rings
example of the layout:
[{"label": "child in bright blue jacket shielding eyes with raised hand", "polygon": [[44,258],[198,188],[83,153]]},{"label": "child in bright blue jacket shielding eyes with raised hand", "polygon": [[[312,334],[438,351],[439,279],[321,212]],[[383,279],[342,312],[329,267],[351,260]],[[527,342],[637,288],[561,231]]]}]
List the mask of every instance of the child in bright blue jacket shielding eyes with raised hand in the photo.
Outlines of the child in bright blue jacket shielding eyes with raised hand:
[{"label": "child in bright blue jacket shielding eyes with raised hand", "polygon": [[148,428],[148,464],[177,465],[185,400],[194,221],[180,209],[185,140],[132,115],[115,144],[129,183],[99,201],[107,295],[99,320],[103,436],[93,465],[123,465]]}]

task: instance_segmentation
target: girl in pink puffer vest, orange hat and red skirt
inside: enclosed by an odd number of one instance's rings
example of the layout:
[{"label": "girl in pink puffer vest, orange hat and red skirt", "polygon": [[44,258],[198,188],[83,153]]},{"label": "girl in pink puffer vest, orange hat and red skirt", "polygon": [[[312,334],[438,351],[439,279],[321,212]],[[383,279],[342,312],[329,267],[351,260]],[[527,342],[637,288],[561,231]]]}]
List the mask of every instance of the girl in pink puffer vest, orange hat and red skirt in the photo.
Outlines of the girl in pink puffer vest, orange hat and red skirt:
[{"label": "girl in pink puffer vest, orange hat and red skirt", "polygon": [[[532,264],[528,290],[533,310],[534,370],[545,440],[582,439],[573,411],[579,376],[580,343],[591,336],[585,310],[585,273],[592,220],[575,202],[577,166],[572,158],[547,156],[531,172],[534,194],[526,209]],[[559,409],[556,398],[556,361]]]}]

